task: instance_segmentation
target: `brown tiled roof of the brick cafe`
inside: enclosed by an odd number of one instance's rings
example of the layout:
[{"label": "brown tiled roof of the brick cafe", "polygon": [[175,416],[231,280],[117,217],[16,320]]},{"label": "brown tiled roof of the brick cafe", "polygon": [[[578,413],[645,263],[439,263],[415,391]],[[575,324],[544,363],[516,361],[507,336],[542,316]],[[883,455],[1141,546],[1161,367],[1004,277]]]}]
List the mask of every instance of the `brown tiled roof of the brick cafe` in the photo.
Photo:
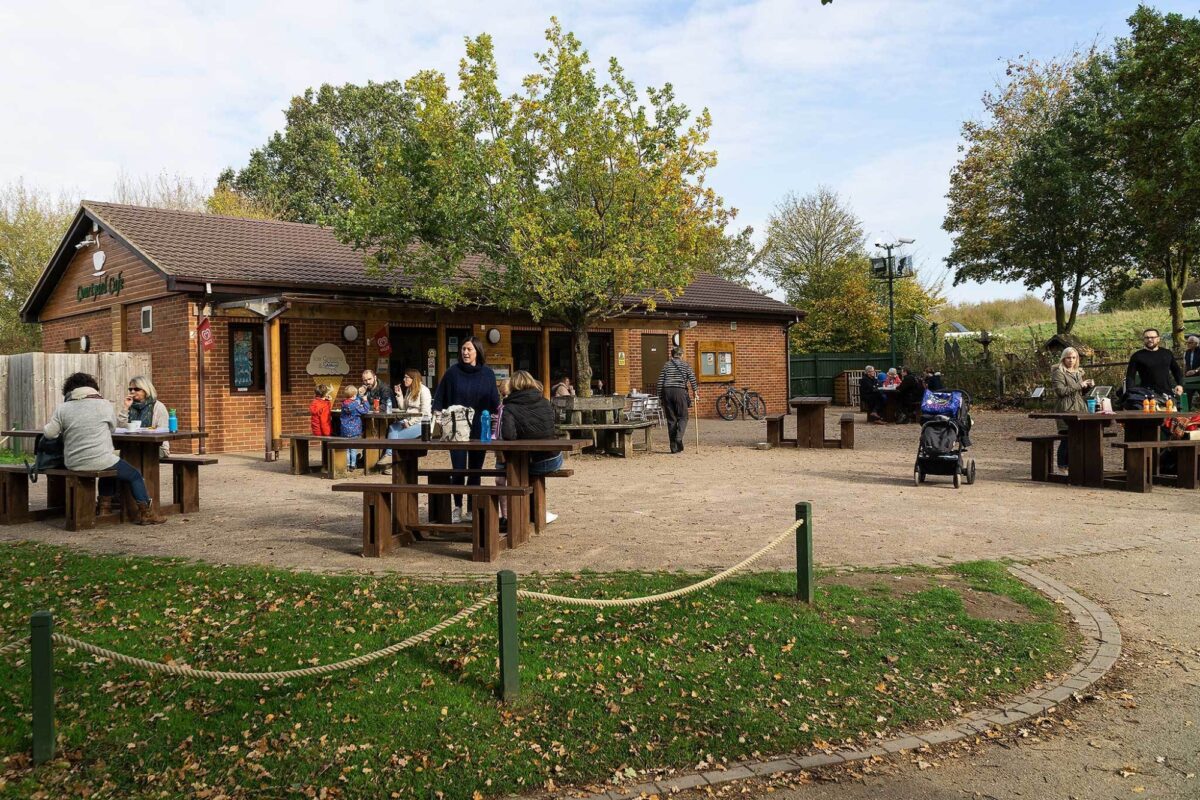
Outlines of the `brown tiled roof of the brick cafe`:
[{"label": "brown tiled roof of the brick cafe", "polygon": [[[410,285],[404,276],[366,273],[362,255],[329,228],[296,222],[244,219],[192,211],[84,201],[101,224],[175,278],[260,284],[281,288],[329,288],[386,291]],[[467,263],[464,269],[479,266]],[[662,311],[744,312],[794,317],[797,311],[772,297],[712,275],[700,275]]]}]

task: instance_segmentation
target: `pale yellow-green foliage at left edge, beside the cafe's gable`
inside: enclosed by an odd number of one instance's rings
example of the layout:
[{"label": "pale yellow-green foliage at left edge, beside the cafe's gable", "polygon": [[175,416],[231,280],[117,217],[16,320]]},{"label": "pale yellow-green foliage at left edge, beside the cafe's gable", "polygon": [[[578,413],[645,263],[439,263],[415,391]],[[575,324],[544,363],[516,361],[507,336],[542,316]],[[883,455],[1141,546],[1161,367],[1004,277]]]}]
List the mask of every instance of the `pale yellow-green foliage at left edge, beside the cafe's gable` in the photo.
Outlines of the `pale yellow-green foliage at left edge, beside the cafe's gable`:
[{"label": "pale yellow-green foliage at left edge, beside the cafe's gable", "polygon": [[16,181],[0,188],[0,353],[42,345],[41,329],[20,321],[20,307],[59,246],[74,203]]}]

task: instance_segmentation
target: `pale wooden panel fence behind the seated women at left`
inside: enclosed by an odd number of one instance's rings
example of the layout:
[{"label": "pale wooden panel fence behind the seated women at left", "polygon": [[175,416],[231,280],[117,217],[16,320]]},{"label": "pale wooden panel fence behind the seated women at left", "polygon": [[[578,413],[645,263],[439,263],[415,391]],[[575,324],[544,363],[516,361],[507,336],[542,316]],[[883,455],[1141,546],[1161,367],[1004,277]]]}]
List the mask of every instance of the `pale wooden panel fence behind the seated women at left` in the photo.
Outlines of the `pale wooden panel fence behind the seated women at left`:
[{"label": "pale wooden panel fence behind the seated women at left", "polygon": [[[100,393],[125,396],[134,375],[150,375],[149,353],[19,353],[0,355],[0,429],[41,428],[62,402],[62,381],[74,372],[96,375]],[[26,440],[0,441],[0,447],[29,450]]]}]

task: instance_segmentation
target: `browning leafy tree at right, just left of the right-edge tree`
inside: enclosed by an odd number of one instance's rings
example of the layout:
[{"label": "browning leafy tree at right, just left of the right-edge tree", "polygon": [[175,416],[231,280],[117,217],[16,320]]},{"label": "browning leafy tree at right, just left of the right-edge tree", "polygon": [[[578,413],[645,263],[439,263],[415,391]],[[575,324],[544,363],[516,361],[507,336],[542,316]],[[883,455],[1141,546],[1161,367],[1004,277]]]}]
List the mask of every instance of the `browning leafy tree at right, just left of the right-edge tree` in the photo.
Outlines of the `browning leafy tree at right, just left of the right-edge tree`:
[{"label": "browning leafy tree at right, just left of the right-edge tree", "polygon": [[1013,61],[984,95],[986,119],[962,126],[942,227],[955,234],[954,283],[1049,287],[1060,332],[1084,297],[1129,263],[1129,225],[1105,138],[1112,91],[1103,59]]}]

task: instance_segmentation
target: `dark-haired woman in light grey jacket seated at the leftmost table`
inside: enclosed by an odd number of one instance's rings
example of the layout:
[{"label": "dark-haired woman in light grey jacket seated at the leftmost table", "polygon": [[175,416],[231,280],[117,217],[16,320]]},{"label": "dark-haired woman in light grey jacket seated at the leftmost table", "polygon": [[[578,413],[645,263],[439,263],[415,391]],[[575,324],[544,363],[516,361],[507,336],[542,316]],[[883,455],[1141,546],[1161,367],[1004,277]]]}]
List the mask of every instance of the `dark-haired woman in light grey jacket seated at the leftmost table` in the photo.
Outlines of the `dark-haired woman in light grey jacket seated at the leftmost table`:
[{"label": "dark-haired woman in light grey jacket seated at the leftmost table", "polygon": [[[113,431],[116,419],[113,405],[100,393],[100,384],[92,375],[77,372],[62,383],[62,404],[54,409],[43,433],[50,439],[62,437],[62,461],[67,469],[102,470],[115,469],[116,480],[130,487],[137,503],[139,525],[157,525],[167,519],[150,504],[142,473],[133,464],[113,452]],[[116,485],[110,477],[100,481],[100,512],[113,507]]]}]

